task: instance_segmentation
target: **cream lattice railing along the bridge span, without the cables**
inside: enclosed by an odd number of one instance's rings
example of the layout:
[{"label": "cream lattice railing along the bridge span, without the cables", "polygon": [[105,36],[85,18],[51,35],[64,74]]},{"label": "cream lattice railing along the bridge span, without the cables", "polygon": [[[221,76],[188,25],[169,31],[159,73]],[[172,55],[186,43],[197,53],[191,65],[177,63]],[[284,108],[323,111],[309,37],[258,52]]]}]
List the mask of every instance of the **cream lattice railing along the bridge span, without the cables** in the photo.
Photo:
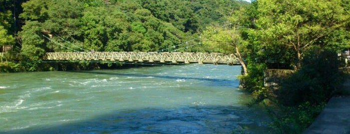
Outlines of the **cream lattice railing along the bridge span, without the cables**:
[{"label": "cream lattice railing along the bridge span, without the cables", "polygon": [[233,54],[206,52],[47,52],[45,59],[239,64]]}]

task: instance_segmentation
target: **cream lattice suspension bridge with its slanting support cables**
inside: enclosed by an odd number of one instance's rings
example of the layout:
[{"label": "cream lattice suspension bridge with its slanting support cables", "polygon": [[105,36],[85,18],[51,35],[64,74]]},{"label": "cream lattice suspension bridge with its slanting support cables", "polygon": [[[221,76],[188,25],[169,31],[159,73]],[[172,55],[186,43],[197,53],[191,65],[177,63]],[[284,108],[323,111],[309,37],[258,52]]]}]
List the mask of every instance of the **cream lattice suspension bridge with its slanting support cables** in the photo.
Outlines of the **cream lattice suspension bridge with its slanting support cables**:
[{"label": "cream lattice suspension bridge with its slanting support cables", "polygon": [[[55,62],[76,62],[76,61],[93,61],[93,62],[119,62],[119,63],[213,63],[213,64],[229,64],[239,65],[237,57],[234,54],[224,53],[208,53],[208,52],[176,52],[180,49],[187,49],[201,42],[193,43],[188,45],[188,42],[199,39],[199,37],[187,40],[183,43],[164,48],[154,52],[135,52],[135,51],[122,51],[122,52],[108,52],[108,51],[89,51],[82,47],[79,47],[64,38],[58,36],[60,39],[68,42],[74,47],[83,50],[79,51],[72,47],[68,47],[51,39],[51,36],[45,36],[50,41],[68,49],[73,52],[47,52],[43,56],[44,61],[55,61]],[[179,47],[180,45],[187,45]],[[176,48],[176,49],[174,49]],[[172,50],[171,50],[172,49]],[[174,52],[175,51],[175,52]],[[0,53],[3,56],[3,53]]]}]

